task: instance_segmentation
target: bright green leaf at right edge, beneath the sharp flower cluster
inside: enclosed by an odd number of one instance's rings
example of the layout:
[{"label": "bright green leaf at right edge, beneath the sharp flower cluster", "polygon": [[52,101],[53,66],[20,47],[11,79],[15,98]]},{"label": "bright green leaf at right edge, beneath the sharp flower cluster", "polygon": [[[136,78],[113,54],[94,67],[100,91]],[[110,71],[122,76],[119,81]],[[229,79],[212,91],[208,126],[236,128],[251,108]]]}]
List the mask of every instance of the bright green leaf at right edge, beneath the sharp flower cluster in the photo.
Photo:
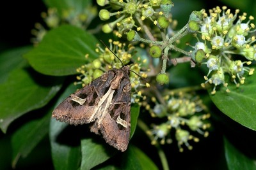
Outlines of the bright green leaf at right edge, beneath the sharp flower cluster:
[{"label": "bright green leaf at right edge, beneath the sharp flower cluster", "polygon": [[209,89],[213,103],[228,117],[256,131],[256,74],[248,76],[239,88],[229,83],[228,89],[230,93],[221,87],[215,95],[211,95],[212,89]]}]

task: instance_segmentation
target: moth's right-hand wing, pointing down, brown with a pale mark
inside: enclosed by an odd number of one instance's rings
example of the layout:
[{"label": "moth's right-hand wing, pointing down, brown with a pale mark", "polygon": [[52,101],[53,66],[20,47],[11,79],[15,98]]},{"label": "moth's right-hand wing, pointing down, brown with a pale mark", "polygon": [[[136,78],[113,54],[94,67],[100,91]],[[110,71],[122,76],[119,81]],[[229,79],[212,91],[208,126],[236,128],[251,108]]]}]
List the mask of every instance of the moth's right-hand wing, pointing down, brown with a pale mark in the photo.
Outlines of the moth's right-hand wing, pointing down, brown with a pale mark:
[{"label": "moth's right-hand wing, pointing down, brown with a pale mark", "polygon": [[[97,121],[98,129],[105,141],[124,152],[127,149],[131,131],[131,83],[124,78],[116,89],[109,113]],[[91,128],[93,131],[93,128]]]}]

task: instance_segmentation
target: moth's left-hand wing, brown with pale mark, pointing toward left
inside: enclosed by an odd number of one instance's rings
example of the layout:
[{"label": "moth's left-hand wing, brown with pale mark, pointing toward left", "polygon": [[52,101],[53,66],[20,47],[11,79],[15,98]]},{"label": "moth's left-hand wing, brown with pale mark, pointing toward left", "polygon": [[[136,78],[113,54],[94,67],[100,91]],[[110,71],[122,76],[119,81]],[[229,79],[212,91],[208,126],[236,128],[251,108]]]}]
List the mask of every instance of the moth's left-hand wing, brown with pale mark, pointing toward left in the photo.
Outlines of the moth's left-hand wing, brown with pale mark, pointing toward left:
[{"label": "moth's left-hand wing, brown with pale mark, pointing toward left", "polygon": [[[57,108],[52,112],[52,118],[56,118],[60,122],[68,124],[88,124],[95,121],[93,110],[99,99],[109,89],[111,80],[114,73],[109,72],[102,74],[99,78],[93,80],[89,85],[77,90],[74,94],[65,99]],[[74,98],[84,100],[83,104],[74,101]]]}]

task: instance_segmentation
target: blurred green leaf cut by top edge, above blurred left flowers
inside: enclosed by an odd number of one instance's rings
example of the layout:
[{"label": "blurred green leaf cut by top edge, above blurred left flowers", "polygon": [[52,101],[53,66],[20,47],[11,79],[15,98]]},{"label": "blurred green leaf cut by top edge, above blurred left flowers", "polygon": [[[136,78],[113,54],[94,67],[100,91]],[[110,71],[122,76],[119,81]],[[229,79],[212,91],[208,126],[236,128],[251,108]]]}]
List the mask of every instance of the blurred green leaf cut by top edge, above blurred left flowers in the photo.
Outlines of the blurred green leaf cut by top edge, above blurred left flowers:
[{"label": "blurred green leaf cut by top edge, above blurred left flowers", "polygon": [[[44,0],[44,3],[48,8],[57,8],[57,12],[62,15],[63,12],[74,11],[76,13],[81,13],[86,7],[92,4],[90,0]],[[75,14],[74,14],[75,15]]]}]

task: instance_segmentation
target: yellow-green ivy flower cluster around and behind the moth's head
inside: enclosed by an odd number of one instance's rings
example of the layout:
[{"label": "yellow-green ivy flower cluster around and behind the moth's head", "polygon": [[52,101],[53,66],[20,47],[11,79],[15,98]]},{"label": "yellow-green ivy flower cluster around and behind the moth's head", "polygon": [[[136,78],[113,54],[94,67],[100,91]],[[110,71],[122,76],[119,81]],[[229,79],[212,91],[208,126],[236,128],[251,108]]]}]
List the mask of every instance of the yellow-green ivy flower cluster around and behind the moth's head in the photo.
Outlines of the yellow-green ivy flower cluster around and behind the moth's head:
[{"label": "yellow-green ivy flower cluster around and behind the moth's head", "polygon": [[[94,59],[89,64],[84,64],[83,66],[77,68],[77,80],[75,85],[82,84],[84,87],[88,85],[91,81],[99,78],[103,73],[108,73],[109,69],[120,69],[123,64],[130,64],[132,62],[131,53],[134,51],[134,46],[129,45],[126,49],[125,43],[120,43],[120,41],[113,41],[109,39],[109,50],[108,48],[101,48],[97,45],[96,52],[99,53],[99,58]],[[116,56],[117,57],[116,57]],[[89,55],[85,55],[88,59]],[[141,71],[141,64],[147,62],[147,60],[141,60],[140,57],[135,59],[136,63],[131,64],[129,78],[131,81],[131,103],[139,103],[141,99],[145,99],[141,87],[149,87],[148,83],[141,82],[142,78],[147,78],[147,73]],[[140,75],[140,76],[138,76]]]}]

